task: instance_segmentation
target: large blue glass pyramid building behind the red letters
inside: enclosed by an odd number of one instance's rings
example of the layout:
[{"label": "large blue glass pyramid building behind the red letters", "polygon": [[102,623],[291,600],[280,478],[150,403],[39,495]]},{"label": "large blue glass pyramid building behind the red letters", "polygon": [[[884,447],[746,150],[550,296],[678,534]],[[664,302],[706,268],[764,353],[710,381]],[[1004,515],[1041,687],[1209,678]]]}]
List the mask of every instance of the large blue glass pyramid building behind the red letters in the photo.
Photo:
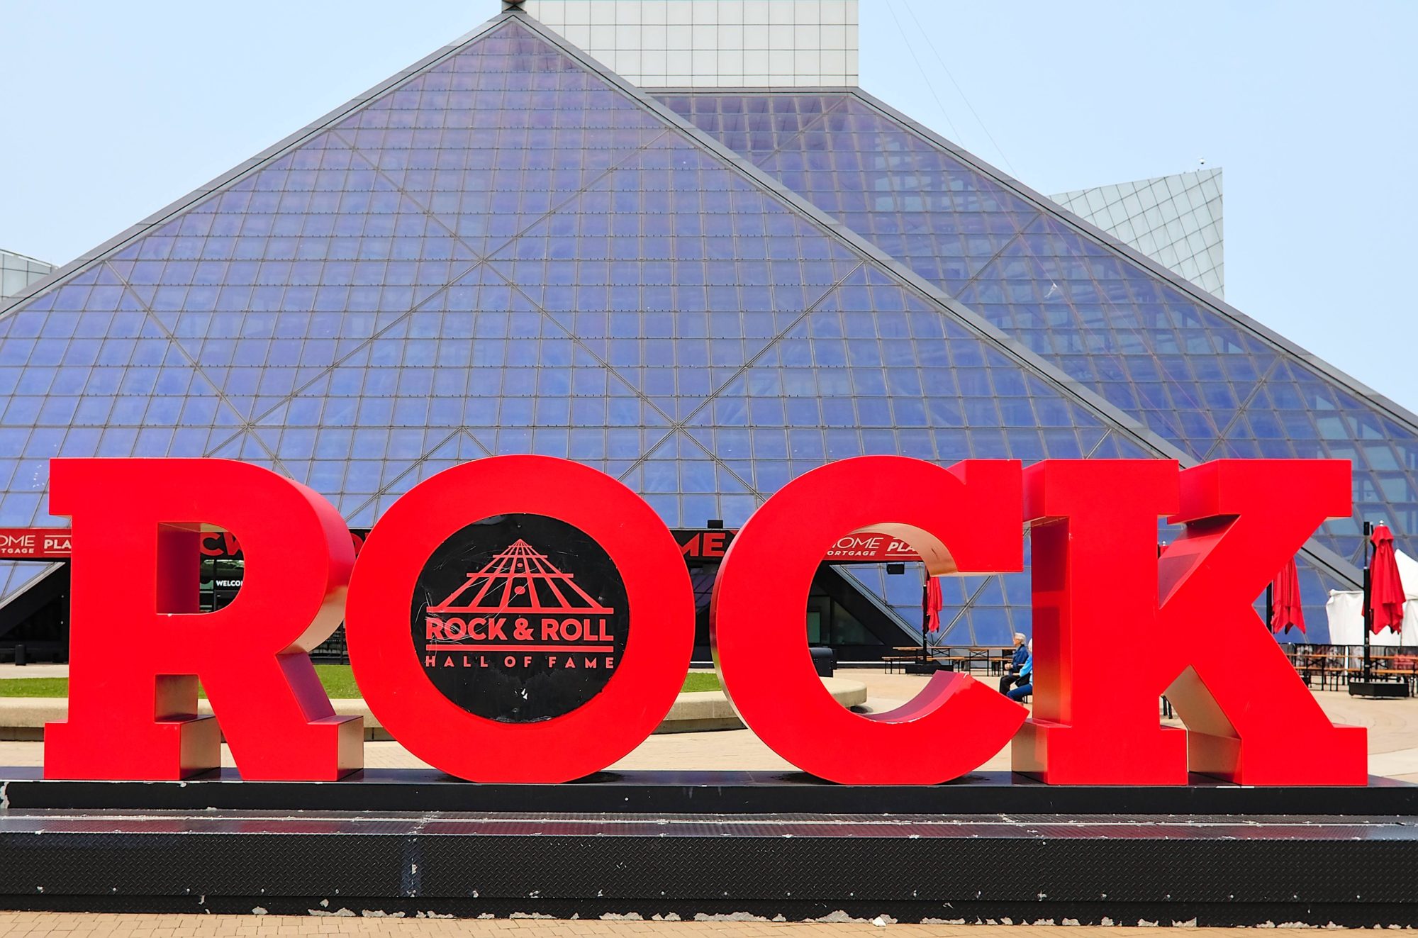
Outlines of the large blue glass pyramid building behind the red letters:
[{"label": "large blue glass pyramid building behind the red letters", "polygon": [[[52,456],[244,459],[367,527],[520,452],[679,527],[864,453],[1341,456],[1306,599],[1358,517],[1418,553],[1407,411],[861,91],[652,98],[516,13],[0,306],[0,527],[62,523]],[[946,602],[951,640],[1028,631],[1027,574]]]}]

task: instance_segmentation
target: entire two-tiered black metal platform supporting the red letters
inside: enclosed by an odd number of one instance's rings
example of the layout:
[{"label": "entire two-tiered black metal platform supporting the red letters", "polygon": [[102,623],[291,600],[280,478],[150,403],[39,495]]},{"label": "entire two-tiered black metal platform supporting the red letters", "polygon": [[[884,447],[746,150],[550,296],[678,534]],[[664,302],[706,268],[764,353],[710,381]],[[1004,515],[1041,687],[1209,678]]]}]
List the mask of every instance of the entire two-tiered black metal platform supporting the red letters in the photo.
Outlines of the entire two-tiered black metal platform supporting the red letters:
[{"label": "entire two-tiered black metal platform supporting the red letters", "polygon": [[1418,927],[1418,786],[1385,779],[1127,789],[1008,774],[934,788],[747,772],[554,786],[373,769],[336,784],[0,776],[0,908]]}]

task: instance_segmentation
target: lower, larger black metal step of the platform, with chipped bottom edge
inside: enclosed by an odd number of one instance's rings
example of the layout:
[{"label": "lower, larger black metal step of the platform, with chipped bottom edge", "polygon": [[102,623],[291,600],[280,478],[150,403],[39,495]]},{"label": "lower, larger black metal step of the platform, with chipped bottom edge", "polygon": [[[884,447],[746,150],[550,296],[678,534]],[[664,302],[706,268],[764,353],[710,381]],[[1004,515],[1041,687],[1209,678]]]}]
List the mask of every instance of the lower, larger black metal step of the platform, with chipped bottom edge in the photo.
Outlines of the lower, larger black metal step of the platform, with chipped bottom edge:
[{"label": "lower, larger black metal step of the platform, with chipped bottom edge", "polygon": [[0,812],[0,907],[1418,925],[1418,827],[1224,816]]}]

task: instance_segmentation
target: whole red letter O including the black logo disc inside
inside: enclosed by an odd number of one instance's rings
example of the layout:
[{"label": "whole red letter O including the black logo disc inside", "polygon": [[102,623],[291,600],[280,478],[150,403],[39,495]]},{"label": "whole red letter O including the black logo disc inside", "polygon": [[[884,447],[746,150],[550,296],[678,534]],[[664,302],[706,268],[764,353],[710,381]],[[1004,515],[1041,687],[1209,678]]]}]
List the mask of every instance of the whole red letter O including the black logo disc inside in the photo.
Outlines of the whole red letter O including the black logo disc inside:
[{"label": "whole red letter O including the black logo disc inside", "polygon": [[390,506],[345,631],[364,700],[410,752],[469,781],[566,782],[665,718],[693,616],[679,546],[640,496],[566,459],[492,456]]}]

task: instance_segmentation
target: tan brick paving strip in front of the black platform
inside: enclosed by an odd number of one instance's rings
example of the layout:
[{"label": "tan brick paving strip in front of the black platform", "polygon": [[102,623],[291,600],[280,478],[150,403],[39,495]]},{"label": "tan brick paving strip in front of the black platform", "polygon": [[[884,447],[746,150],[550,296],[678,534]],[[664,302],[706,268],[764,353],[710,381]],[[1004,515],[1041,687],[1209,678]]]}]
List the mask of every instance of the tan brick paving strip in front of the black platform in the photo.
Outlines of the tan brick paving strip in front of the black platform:
[{"label": "tan brick paving strip in front of the black platform", "polygon": [[[1092,928],[1078,927],[1064,932],[1065,938],[1163,938],[1156,928]],[[1187,938],[1215,938],[1227,929],[1188,928]],[[1176,931],[1166,932],[1168,935]],[[1268,937],[1290,938],[1309,935],[1306,929],[1266,929]],[[657,922],[657,921],[539,921],[539,920],[391,920],[391,918],[285,918],[278,915],[55,915],[45,912],[0,912],[0,935],[112,935],[113,938],[237,938],[245,935],[393,935],[421,938],[423,935],[526,935],[574,938],[577,935],[671,935],[698,938],[700,935],[742,935],[754,938],[851,938],[852,935],[888,935],[891,938],[939,938],[966,935],[968,938],[1058,938],[1049,925],[885,925],[820,924],[820,922]]]}]

